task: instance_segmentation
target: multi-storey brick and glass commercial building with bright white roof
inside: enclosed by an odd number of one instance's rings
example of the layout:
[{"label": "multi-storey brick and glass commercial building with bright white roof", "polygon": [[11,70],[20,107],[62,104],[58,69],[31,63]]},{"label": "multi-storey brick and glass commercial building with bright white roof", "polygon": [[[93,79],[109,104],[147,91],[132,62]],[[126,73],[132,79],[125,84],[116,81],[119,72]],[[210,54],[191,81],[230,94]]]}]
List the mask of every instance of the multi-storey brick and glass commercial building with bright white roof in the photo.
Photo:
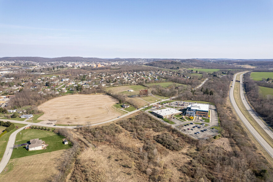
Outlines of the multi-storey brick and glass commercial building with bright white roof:
[{"label": "multi-storey brick and glass commercial building with bright white roof", "polygon": [[187,108],[186,115],[208,117],[208,104],[190,104]]}]

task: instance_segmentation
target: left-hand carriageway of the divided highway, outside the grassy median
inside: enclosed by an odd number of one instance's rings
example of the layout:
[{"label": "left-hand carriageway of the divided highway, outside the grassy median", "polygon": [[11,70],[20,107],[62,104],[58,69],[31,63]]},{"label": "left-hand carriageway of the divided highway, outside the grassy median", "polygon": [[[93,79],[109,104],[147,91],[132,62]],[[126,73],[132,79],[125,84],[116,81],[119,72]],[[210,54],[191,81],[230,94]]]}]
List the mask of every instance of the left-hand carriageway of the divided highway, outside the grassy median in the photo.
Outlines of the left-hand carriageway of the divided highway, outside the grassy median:
[{"label": "left-hand carriageway of the divided highway, outside the grassy median", "polygon": [[[245,72],[240,72],[245,73]],[[240,111],[239,107],[237,106],[235,99],[234,99],[234,86],[236,81],[236,76],[240,73],[236,73],[233,77],[232,87],[229,90],[229,99],[230,102],[236,111],[237,115],[241,119],[241,121],[245,124],[246,128],[250,131],[250,133],[256,138],[256,140],[262,145],[262,147],[268,152],[268,154],[273,158],[273,149],[272,147],[262,138],[262,136],[253,128],[253,126],[249,123],[249,121],[245,118],[243,113]]]}]

